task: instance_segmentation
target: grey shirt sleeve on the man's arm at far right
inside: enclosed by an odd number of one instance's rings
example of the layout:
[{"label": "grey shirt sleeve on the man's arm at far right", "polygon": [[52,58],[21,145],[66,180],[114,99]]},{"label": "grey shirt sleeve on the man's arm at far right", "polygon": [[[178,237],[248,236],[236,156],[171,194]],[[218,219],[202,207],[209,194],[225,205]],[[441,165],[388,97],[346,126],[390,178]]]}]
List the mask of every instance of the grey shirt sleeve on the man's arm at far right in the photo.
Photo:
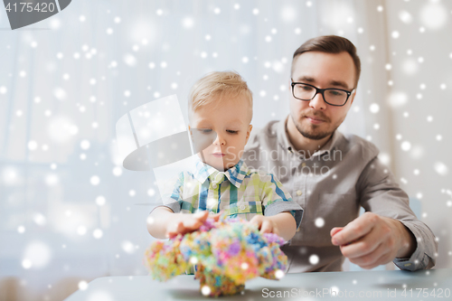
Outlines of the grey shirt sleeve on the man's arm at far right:
[{"label": "grey shirt sleeve on the man's arm at far right", "polygon": [[357,183],[357,191],[366,212],[400,221],[416,238],[417,247],[410,258],[393,260],[398,268],[414,271],[435,266],[438,252],[435,235],[412,212],[407,193],[400,189],[391,171],[378,157],[364,168]]}]

